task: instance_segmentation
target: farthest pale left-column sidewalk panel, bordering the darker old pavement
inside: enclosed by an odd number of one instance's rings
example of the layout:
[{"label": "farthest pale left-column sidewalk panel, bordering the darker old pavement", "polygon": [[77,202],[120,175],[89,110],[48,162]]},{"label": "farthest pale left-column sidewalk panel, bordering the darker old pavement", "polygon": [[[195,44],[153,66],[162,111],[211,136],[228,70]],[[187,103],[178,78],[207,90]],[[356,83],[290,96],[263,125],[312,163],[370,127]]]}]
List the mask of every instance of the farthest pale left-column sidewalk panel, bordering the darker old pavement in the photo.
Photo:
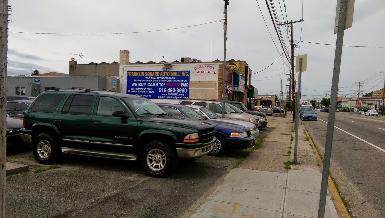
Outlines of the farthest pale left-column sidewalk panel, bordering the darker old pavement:
[{"label": "farthest pale left-column sidewalk panel, bordering the darker old pavement", "polygon": [[228,181],[270,186],[276,188],[283,188],[285,179],[286,173],[274,173],[242,168],[235,168],[224,178],[224,180]]}]

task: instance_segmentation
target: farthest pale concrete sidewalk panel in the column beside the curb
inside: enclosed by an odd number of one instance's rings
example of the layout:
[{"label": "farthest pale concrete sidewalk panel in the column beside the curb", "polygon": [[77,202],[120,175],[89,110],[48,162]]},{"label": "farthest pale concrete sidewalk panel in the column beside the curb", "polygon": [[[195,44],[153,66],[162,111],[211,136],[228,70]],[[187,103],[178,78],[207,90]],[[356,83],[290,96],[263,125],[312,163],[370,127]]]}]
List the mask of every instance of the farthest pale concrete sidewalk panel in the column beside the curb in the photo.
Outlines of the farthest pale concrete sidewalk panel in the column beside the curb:
[{"label": "farthest pale concrete sidewalk panel in the column beside the curb", "polygon": [[319,172],[292,169],[288,171],[288,182],[286,187],[288,189],[320,193],[321,179],[322,174]]}]

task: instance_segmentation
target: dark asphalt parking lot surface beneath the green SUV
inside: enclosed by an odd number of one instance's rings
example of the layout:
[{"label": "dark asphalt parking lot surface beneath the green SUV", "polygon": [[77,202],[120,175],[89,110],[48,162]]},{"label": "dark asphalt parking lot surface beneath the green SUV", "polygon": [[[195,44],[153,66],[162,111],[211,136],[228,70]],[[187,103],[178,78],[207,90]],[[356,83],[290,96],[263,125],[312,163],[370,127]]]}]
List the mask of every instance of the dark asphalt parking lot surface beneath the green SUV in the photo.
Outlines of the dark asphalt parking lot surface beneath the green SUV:
[{"label": "dark asphalt parking lot surface beneath the green SUV", "polygon": [[[260,129],[259,139],[273,128]],[[30,147],[8,148],[7,161],[28,173],[7,176],[7,217],[187,217],[195,213],[246,150],[181,161],[168,178],[147,176],[136,162],[64,155],[59,168],[34,174]]]}]

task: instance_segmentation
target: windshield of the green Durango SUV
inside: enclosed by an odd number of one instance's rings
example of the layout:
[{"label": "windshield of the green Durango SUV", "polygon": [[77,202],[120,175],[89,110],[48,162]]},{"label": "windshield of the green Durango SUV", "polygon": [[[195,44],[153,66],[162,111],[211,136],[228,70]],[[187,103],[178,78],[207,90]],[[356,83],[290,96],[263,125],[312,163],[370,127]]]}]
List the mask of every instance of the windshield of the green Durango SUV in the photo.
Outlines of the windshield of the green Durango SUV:
[{"label": "windshield of the green Durango SUV", "polygon": [[122,99],[132,111],[135,111],[140,116],[164,113],[159,106],[144,97],[125,97]]}]

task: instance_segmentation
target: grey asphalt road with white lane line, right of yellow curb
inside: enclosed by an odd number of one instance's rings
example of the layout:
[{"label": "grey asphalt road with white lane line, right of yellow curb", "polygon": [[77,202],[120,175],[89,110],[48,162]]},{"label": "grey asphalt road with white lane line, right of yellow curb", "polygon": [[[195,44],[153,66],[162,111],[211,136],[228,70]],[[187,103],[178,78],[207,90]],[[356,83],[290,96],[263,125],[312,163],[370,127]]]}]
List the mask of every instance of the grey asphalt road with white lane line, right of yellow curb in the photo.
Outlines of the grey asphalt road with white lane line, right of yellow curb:
[{"label": "grey asphalt road with white lane line, right of yellow curb", "polygon": [[[304,125],[325,151],[329,113]],[[385,217],[385,119],[336,112],[330,172],[357,217]],[[350,134],[349,134],[350,133]]]}]

